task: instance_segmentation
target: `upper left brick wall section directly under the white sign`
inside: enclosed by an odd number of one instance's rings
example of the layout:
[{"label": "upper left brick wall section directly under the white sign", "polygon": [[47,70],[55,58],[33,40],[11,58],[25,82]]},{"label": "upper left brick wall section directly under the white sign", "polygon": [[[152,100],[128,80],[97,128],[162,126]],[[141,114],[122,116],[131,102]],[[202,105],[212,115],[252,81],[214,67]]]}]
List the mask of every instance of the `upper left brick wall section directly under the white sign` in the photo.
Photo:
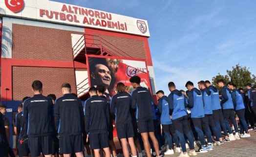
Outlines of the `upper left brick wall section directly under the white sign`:
[{"label": "upper left brick wall section directly under the white sign", "polygon": [[15,59],[72,61],[71,34],[83,34],[52,28],[13,24]]}]

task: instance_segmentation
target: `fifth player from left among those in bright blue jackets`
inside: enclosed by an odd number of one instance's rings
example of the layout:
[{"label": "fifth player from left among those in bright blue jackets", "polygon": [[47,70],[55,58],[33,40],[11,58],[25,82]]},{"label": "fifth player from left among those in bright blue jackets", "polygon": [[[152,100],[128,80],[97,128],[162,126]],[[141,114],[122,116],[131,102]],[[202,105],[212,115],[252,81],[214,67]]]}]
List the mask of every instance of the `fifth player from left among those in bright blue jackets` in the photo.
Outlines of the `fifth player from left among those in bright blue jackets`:
[{"label": "fifth player from left among those in bright blue jackets", "polygon": [[[218,137],[220,143],[224,142],[230,142],[230,139],[228,137],[228,132],[227,132],[227,127],[224,122],[223,114],[222,114],[222,109],[220,106],[220,99],[219,99],[219,90],[214,87],[209,80],[205,81],[206,87],[211,91],[211,100],[212,100],[212,110],[213,110],[213,119],[215,122],[215,125],[217,127],[217,132],[218,132]],[[222,139],[222,134],[221,134],[221,127],[224,132],[225,138]]]}]

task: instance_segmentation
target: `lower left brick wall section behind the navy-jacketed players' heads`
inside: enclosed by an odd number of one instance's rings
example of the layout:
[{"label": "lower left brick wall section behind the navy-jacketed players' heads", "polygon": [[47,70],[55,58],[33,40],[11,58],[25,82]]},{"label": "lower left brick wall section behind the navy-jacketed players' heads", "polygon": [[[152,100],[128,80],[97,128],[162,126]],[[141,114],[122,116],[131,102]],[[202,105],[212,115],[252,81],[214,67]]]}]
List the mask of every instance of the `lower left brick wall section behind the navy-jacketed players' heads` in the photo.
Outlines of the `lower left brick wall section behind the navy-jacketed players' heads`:
[{"label": "lower left brick wall section behind the navy-jacketed players' heads", "polygon": [[17,67],[12,68],[13,100],[21,100],[25,96],[33,96],[31,84],[34,80],[43,82],[43,95],[62,96],[61,85],[70,83],[72,91],[76,91],[73,68]]}]

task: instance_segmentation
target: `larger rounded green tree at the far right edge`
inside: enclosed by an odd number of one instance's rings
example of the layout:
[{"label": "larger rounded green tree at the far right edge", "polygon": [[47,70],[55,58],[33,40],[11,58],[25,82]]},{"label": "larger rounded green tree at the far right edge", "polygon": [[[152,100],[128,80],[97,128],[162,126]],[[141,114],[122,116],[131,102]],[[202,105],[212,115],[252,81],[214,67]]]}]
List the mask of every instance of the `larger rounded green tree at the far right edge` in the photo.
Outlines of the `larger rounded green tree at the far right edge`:
[{"label": "larger rounded green tree at the far right edge", "polygon": [[242,67],[241,65],[236,64],[235,67],[232,67],[232,70],[227,70],[229,78],[235,83],[237,88],[242,88],[248,82],[255,84],[256,76],[250,72],[250,68],[246,66]]}]

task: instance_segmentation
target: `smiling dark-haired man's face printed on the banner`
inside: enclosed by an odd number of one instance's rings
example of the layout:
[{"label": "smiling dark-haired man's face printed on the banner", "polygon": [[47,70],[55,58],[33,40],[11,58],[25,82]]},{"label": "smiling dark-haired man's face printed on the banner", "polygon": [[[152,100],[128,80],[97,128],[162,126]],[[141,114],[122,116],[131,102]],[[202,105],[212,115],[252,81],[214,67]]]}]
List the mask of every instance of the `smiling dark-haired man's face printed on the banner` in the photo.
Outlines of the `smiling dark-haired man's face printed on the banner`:
[{"label": "smiling dark-haired man's face printed on the banner", "polygon": [[111,72],[106,65],[96,64],[95,72],[91,74],[91,77],[96,79],[99,84],[103,84],[106,88],[110,85],[111,82]]}]

